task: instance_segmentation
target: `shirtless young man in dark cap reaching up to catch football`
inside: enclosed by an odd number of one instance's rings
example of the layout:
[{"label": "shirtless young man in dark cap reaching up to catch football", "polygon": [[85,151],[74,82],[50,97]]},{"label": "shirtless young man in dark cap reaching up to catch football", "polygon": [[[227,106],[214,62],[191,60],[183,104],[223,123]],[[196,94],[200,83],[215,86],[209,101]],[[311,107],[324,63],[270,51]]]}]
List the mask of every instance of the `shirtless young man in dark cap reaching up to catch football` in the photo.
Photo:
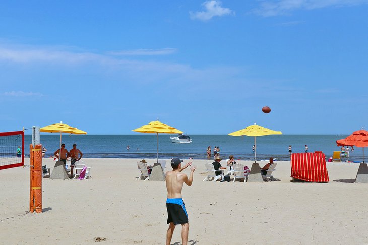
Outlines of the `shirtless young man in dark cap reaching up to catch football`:
[{"label": "shirtless young man in dark cap reaching up to catch football", "polygon": [[177,224],[181,224],[182,244],[186,245],[188,243],[188,214],[181,198],[181,189],[184,183],[188,186],[192,185],[193,172],[196,170],[196,167],[191,167],[191,173],[188,178],[187,174],[181,173],[181,171],[191,166],[192,162],[187,163],[184,167],[181,167],[181,162],[182,160],[179,158],[173,158],[171,160],[172,171],[166,172],[167,223],[170,224],[166,233],[166,245],[170,245],[172,234]]}]

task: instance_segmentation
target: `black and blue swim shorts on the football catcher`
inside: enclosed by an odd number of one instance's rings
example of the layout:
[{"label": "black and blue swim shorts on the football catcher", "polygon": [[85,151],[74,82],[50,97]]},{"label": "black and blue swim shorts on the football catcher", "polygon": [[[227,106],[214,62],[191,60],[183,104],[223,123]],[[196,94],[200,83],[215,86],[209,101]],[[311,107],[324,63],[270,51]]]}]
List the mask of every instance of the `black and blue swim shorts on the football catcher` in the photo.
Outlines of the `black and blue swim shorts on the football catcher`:
[{"label": "black and blue swim shorts on the football catcher", "polygon": [[186,224],[188,223],[188,214],[182,198],[168,198],[166,200],[167,223]]}]

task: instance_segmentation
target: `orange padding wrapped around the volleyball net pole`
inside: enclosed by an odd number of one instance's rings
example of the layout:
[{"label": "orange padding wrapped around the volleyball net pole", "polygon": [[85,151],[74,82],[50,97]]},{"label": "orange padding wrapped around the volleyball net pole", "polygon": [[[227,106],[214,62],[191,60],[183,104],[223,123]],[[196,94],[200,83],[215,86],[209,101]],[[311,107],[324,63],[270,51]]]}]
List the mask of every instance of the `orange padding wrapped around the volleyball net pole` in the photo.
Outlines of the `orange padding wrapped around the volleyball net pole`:
[{"label": "orange padding wrapped around the volleyball net pole", "polygon": [[[32,145],[31,145],[32,146]],[[32,147],[31,147],[32,148]],[[42,212],[42,145],[31,149],[32,185],[30,192],[30,211]]]}]

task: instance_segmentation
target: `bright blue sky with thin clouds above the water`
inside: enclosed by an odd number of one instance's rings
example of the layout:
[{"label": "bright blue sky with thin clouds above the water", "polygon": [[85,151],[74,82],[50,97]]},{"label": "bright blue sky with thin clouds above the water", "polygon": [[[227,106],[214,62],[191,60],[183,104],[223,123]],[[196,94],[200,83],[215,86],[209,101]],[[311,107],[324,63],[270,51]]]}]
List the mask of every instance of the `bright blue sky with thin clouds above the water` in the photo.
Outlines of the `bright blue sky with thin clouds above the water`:
[{"label": "bright blue sky with thin clouds above the water", "polygon": [[367,13],[368,0],[2,1],[0,131],[366,129]]}]

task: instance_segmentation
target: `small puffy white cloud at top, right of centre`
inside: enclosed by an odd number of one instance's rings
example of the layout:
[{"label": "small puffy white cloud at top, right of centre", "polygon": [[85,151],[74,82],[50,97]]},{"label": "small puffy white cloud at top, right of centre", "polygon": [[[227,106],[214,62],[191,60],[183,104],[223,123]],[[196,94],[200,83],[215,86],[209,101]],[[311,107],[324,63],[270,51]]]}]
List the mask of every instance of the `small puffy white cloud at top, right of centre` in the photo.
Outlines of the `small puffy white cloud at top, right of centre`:
[{"label": "small puffy white cloud at top, right of centre", "polygon": [[205,11],[189,12],[192,20],[208,21],[215,16],[235,15],[235,12],[229,8],[221,7],[221,1],[218,0],[206,1],[202,6]]}]

